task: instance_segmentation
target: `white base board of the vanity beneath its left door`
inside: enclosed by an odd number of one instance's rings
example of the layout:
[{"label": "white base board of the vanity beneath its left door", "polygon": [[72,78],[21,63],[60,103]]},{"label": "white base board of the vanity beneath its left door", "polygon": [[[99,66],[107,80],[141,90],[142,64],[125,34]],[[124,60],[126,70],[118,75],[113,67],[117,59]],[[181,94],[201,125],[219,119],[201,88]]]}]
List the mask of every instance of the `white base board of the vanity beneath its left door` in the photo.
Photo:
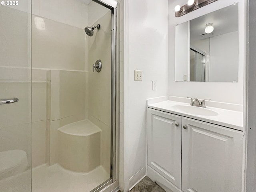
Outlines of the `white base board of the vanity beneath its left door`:
[{"label": "white base board of the vanity beneath its left door", "polygon": [[147,166],[147,172],[147,176],[162,187],[166,192],[182,192],[182,190],[178,189],[174,184],[172,184],[150,166]]}]

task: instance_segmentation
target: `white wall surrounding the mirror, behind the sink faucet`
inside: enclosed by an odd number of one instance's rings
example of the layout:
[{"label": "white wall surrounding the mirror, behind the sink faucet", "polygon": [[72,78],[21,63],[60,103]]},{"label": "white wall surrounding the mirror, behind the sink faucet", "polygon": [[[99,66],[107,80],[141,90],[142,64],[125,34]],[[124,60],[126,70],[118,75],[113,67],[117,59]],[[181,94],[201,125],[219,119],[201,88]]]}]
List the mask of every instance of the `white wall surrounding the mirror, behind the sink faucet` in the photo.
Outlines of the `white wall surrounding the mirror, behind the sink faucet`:
[{"label": "white wall surrounding the mirror, behind the sink faucet", "polygon": [[[234,0],[216,1],[181,17],[174,16],[174,7],[183,6],[187,0],[168,1],[168,95],[191,96],[199,99],[210,98],[214,101],[243,104],[243,73],[244,73],[244,0],[239,2],[239,66],[238,83],[223,82],[175,82],[175,26],[197,18],[209,12],[224,8]],[[221,94],[220,94],[221,93]],[[231,96],[232,95],[232,96]]]}]

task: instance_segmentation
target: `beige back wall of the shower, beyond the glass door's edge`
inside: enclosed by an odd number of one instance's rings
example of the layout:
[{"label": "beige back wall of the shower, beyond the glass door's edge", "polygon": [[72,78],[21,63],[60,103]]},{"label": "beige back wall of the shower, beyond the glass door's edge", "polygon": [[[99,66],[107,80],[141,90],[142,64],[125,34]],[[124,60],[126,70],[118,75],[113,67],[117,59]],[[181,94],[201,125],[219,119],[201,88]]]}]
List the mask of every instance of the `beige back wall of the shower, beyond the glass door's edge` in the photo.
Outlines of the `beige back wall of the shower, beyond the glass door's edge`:
[{"label": "beige back wall of the shower, beyond the glass door's edge", "polygon": [[85,45],[83,28],[32,15],[33,167],[58,162],[58,128],[86,117]]}]

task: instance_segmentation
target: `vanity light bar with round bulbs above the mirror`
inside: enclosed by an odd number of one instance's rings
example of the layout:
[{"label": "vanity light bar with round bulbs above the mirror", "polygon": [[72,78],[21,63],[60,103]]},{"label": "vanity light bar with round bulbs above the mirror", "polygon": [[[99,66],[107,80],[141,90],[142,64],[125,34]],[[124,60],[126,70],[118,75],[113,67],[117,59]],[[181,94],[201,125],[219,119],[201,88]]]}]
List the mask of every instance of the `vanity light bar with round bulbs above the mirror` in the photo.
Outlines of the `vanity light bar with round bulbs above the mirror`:
[{"label": "vanity light bar with round bulbs above the mirror", "polygon": [[[191,11],[194,11],[200,7],[206,6],[210,3],[213,3],[218,0],[188,0],[188,4],[180,7],[177,5],[174,10],[175,10],[175,16],[180,17],[182,15],[185,15]],[[180,9],[178,9],[180,8]]]}]

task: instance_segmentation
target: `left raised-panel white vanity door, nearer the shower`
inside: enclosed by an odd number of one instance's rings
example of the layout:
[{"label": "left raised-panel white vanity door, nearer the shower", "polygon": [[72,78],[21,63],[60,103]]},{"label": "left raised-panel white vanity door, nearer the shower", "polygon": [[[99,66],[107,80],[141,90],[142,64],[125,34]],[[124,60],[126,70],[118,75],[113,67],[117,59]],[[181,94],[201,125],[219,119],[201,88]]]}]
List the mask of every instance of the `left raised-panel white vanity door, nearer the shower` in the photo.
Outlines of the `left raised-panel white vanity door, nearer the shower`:
[{"label": "left raised-panel white vanity door, nearer the shower", "polygon": [[181,125],[181,116],[150,108],[147,110],[148,166],[179,189],[181,188]]}]

